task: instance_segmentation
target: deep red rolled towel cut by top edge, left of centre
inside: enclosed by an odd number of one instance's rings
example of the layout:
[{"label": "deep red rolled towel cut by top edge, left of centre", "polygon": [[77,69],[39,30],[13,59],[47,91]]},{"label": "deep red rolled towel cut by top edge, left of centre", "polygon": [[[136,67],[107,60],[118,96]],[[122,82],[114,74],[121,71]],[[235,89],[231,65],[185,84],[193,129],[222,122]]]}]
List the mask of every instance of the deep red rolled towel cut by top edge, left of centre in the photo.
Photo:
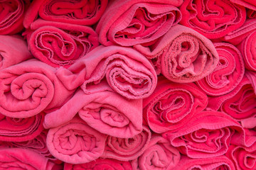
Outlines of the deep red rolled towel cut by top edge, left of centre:
[{"label": "deep red rolled towel cut by top edge, left of centre", "polygon": [[29,28],[33,21],[41,18],[46,21],[91,26],[100,20],[106,7],[107,0],[34,0],[26,11],[23,25]]}]

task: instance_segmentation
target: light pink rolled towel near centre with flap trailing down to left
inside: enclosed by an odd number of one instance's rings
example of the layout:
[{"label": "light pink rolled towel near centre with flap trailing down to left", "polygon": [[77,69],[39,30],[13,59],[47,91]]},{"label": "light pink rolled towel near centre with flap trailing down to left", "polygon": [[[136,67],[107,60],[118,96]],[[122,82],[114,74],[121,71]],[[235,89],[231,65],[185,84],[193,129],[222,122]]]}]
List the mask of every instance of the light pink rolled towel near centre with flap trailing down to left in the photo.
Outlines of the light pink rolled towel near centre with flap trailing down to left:
[{"label": "light pink rolled towel near centre with flap trailing down to left", "polygon": [[85,94],[78,90],[62,108],[46,115],[44,127],[67,123],[77,113],[87,125],[107,135],[127,138],[142,132],[142,99],[128,100],[113,91]]}]

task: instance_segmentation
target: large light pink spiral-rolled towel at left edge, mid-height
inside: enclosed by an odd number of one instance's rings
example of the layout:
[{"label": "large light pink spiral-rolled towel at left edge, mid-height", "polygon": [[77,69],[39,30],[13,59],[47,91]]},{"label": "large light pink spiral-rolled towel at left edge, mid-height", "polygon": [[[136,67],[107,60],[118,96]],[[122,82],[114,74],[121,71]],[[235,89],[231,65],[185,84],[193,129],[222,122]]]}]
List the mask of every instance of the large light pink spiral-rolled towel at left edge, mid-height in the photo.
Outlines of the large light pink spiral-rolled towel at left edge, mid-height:
[{"label": "large light pink spiral-rolled towel at left edge, mid-height", "polygon": [[36,59],[0,70],[0,113],[28,118],[65,103],[73,91],[55,75],[55,68]]}]

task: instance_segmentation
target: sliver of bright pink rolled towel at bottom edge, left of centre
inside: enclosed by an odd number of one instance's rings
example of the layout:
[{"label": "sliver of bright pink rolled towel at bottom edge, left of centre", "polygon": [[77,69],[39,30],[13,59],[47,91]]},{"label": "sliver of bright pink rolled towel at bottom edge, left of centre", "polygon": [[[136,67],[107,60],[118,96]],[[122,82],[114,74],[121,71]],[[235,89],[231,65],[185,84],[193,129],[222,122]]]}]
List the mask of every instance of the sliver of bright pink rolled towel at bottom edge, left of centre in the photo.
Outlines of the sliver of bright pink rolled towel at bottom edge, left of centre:
[{"label": "sliver of bright pink rolled towel at bottom edge, left of centre", "polygon": [[131,170],[132,165],[130,162],[121,162],[115,159],[96,159],[93,162],[86,164],[64,164],[64,170],[75,170],[75,169],[111,169],[111,170]]}]

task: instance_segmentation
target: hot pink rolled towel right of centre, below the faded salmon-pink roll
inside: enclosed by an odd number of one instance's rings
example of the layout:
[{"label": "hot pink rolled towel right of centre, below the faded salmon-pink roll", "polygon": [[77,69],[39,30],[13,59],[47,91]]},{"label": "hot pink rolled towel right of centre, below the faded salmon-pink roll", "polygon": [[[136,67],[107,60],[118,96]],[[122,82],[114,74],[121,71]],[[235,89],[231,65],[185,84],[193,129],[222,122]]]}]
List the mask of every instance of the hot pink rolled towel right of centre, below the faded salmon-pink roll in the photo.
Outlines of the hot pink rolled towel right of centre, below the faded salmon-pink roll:
[{"label": "hot pink rolled towel right of centre, below the faded salmon-pink roll", "polygon": [[143,100],[144,119],[154,132],[177,131],[207,103],[206,94],[195,84],[177,84],[159,77],[154,93]]}]

